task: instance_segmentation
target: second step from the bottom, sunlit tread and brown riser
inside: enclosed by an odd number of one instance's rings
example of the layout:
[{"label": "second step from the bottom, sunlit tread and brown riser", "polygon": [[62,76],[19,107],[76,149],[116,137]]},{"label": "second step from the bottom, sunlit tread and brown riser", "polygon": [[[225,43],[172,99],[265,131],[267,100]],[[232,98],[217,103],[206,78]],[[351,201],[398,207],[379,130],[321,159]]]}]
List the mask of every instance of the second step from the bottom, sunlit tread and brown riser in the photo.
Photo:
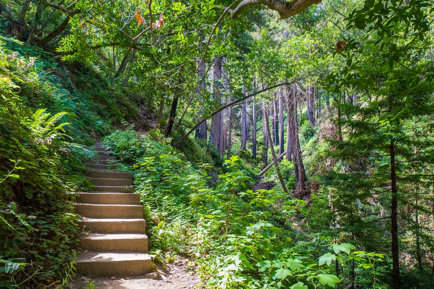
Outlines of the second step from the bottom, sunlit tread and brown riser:
[{"label": "second step from the bottom, sunlit tread and brown riser", "polygon": [[101,252],[148,252],[145,234],[83,234],[79,247]]}]

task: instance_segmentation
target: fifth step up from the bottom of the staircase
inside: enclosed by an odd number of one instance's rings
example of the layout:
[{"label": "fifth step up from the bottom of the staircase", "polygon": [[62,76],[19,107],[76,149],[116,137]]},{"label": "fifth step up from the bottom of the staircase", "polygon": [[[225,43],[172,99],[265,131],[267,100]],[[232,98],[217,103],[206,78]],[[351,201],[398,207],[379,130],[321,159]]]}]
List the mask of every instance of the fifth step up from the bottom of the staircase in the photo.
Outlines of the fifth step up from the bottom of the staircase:
[{"label": "fifth step up from the bottom of the staircase", "polygon": [[78,193],[76,202],[98,205],[140,205],[140,195],[125,193]]}]

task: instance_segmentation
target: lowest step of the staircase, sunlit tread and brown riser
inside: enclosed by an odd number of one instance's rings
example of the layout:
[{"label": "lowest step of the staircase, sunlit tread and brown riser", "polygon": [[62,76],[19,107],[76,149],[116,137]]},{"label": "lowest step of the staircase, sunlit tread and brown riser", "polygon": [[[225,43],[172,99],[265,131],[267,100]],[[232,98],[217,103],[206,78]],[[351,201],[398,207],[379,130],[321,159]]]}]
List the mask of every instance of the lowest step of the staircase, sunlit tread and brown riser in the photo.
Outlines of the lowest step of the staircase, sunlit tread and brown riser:
[{"label": "lowest step of the staircase, sunlit tread and brown riser", "polygon": [[142,275],[151,270],[151,257],[144,253],[77,254],[76,269],[92,276]]}]

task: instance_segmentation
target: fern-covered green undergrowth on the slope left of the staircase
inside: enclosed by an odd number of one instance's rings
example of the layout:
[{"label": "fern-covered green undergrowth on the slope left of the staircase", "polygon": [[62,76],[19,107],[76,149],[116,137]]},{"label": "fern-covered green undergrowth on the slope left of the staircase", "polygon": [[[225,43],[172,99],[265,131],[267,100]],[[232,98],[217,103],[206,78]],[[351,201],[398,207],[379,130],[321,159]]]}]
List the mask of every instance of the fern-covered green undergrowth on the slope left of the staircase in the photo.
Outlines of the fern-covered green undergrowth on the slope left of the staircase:
[{"label": "fern-covered green undergrowth on the slope left of the staircase", "polygon": [[74,193],[92,188],[88,146],[135,114],[100,68],[51,56],[0,36],[1,288],[68,283],[81,233]]}]

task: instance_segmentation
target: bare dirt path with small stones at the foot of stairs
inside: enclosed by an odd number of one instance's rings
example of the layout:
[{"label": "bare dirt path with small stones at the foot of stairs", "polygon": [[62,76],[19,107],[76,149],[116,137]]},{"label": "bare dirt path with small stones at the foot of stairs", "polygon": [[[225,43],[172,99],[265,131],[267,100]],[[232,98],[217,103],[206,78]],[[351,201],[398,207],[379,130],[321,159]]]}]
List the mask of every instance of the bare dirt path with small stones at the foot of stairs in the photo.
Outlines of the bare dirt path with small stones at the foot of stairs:
[{"label": "bare dirt path with small stones at the foot of stairs", "polygon": [[178,259],[174,263],[158,267],[158,274],[153,272],[141,276],[112,276],[92,277],[77,274],[70,282],[71,289],[87,289],[87,282],[92,282],[96,289],[191,289],[201,282],[191,267],[187,266],[188,259]]}]

